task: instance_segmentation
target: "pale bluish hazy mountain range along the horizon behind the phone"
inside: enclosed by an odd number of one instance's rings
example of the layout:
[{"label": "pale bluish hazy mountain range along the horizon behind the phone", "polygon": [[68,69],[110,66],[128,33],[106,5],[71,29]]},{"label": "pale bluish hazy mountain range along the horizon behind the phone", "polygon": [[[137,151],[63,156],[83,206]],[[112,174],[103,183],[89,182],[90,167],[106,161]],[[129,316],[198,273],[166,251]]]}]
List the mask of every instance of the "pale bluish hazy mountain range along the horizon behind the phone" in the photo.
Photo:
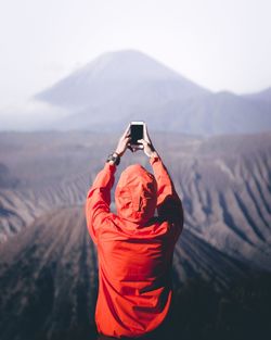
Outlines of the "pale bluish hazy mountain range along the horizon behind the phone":
[{"label": "pale bluish hazy mountain range along the horizon behind the phone", "polygon": [[109,131],[144,119],[157,130],[211,136],[270,130],[267,93],[251,100],[211,92],[146,54],[125,50],[102,54],[35,99],[69,112],[47,128]]}]

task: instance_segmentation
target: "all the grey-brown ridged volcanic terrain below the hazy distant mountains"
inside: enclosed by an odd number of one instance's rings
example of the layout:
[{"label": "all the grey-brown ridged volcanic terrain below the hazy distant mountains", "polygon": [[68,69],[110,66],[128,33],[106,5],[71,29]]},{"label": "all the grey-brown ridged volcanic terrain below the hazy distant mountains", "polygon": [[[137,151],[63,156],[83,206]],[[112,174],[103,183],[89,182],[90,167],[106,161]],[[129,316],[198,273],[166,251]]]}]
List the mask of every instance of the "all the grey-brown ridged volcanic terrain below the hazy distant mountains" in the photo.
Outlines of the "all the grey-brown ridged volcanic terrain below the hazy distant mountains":
[{"label": "all the grey-brown ridged volcanic terrain below the hazy distant mountains", "polygon": [[[177,338],[250,339],[219,336],[236,324],[261,335],[270,325],[271,134],[150,134],[184,206],[172,272]],[[95,339],[98,264],[83,204],[118,137],[0,134],[1,340]],[[113,192],[132,163],[151,171],[128,150]],[[258,273],[269,278],[255,281]],[[201,327],[205,337],[191,335]],[[206,338],[210,327],[219,335]]]}]

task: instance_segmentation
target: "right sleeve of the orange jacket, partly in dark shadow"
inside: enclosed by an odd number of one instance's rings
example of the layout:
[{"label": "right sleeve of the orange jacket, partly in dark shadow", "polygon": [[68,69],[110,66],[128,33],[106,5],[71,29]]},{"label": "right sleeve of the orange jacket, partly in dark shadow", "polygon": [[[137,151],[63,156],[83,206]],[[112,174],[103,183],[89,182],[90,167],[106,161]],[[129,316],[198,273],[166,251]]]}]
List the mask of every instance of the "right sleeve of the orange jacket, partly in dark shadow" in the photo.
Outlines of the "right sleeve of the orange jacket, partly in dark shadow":
[{"label": "right sleeve of the orange jacket, partly in dark shadow", "polygon": [[153,167],[157,182],[157,213],[163,219],[167,219],[177,226],[178,234],[183,229],[182,202],[176,192],[169,173],[159,156],[151,158],[150,164]]}]

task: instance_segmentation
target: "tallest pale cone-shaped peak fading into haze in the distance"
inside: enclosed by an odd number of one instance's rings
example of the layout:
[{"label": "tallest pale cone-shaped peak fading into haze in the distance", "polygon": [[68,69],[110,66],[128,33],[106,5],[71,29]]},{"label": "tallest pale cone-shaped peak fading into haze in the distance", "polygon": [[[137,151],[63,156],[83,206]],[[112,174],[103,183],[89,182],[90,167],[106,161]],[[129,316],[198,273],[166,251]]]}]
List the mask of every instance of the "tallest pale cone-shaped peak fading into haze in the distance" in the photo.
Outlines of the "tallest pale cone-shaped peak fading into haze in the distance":
[{"label": "tallest pale cone-shaped peak fading into haze in the distance", "polygon": [[[133,50],[108,52],[38,93],[36,99],[76,110],[100,105],[126,105],[172,98],[190,98],[208,91],[152,58]],[[121,113],[121,112],[120,112]],[[109,116],[111,113],[108,112]]]}]

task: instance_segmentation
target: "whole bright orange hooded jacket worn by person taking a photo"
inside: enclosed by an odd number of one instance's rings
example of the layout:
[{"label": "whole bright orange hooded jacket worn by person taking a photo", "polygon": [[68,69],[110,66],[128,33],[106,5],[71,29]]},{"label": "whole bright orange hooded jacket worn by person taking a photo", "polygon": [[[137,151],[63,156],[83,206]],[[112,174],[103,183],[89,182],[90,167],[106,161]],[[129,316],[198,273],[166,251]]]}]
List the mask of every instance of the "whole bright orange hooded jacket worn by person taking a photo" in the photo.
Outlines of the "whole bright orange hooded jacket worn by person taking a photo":
[{"label": "whole bright orange hooded jacket worn by person taking a photo", "polygon": [[115,190],[117,214],[109,210],[116,165],[105,163],[87,196],[87,226],[99,259],[95,323],[105,336],[145,335],[169,311],[172,255],[183,211],[162,160],[150,163],[154,175],[140,164],[121,173]]}]

